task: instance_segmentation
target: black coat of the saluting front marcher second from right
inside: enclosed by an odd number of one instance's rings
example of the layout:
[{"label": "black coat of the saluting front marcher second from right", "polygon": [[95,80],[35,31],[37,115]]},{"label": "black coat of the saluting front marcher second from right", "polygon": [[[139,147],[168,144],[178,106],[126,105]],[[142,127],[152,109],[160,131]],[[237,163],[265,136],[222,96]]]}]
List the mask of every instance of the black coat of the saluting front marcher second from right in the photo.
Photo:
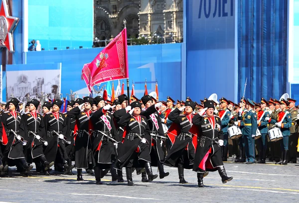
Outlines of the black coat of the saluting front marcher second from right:
[{"label": "black coat of the saluting front marcher second from right", "polygon": [[175,138],[175,141],[165,158],[164,165],[177,167],[177,165],[181,163],[185,169],[191,169],[195,157],[195,147],[192,143],[192,135],[189,132],[192,126],[193,115],[184,115],[180,113],[181,111],[178,108],[175,108],[168,115],[168,119],[178,125],[180,133]]}]

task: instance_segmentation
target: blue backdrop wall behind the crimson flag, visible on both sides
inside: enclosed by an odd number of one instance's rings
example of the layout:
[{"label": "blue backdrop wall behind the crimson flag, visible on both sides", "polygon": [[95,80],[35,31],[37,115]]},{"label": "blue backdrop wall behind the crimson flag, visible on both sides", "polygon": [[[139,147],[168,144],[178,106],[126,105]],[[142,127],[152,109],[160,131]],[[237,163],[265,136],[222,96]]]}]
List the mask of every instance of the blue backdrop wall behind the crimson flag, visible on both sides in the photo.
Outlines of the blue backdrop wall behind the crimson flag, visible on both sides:
[{"label": "blue backdrop wall behind the crimson flag, visible on both sides", "polygon": [[[87,96],[88,91],[81,78],[81,71],[84,63],[92,61],[101,50],[102,48],[93,48],[26,52],[25,54],[27,63],[31,66],[61,62],[61,93],[69,94],[72,89],[74,92],[83,92],[81,96]],[[141,98],[144,95],[145,80],[147,79],[149,93],[154,91],[155,82],[158,83],[160,100],[166,100],[167,96],[181,99],[181,44],[129,46],[128,58],[130,94],[133,81],[136,96]],[[123,82],[126,87],[126,81]],[[117,84],[118,81],[115,81],[115,90]]]}]

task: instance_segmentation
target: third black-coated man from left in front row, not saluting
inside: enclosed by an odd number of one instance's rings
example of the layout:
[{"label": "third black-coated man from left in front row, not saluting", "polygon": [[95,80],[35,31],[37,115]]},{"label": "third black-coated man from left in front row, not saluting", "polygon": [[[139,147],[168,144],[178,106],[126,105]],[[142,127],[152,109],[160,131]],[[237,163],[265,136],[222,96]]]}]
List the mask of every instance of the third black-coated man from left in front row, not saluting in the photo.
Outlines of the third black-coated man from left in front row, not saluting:
[{"label": "third black-coated man from left in front row, not saluting", "polygon": [[46,141],[48,142],[44,155],[48,162],[55,162],[56,154],[58,153],[58,156],[64,164],[64,173],[67,174],[74,166],[68,165],[68,156],[65,150],[67,123],[64,114],[59,112],[62,103],[61,100],[54,100],[52,103],[53,111],[46,113],[44,116]]}]

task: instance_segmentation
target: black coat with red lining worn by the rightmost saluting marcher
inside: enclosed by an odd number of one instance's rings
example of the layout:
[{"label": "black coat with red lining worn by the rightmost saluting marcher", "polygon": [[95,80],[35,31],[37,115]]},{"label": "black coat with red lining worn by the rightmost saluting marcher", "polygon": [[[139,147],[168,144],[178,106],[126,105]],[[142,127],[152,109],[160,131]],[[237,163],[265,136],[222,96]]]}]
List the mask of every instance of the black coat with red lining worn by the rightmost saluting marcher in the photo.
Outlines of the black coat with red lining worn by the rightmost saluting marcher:
[{"label": "black coat with red lining worn by the rightmost saluting marcher", "polygon": [[223,140],[221,119],[214,115],[212,118],[196,114],[192,122],[197,125],[200,136],[196,148],[193,171],[216,171],[218,166],[223,166],[221,148],[216,143]]}]

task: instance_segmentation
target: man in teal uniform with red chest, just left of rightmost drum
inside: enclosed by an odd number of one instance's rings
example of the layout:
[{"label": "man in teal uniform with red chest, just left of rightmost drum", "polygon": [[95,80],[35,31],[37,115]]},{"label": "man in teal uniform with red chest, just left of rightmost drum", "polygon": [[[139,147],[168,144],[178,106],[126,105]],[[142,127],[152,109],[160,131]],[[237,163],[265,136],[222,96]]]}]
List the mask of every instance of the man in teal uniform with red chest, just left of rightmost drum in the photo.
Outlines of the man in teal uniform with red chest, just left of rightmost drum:
[{"label": "man in teal uniform with red chest, just left of rightmost drum", "polygon": [[266,117],[270,117],[270,114],[268,110],[266,109],[266,106],[269,105],[266,99],[262,98],[261,100],[261,110],[258,112],[258,128],[261,132],[261,139],[259,141],[261,142],[260,145],[260,151],[259,151],[259,156],[260,156],[260,163],[261,164],[266,164],[266,153],[267,153],[267,136],[268,136],[268,121],[265,120]]}]

